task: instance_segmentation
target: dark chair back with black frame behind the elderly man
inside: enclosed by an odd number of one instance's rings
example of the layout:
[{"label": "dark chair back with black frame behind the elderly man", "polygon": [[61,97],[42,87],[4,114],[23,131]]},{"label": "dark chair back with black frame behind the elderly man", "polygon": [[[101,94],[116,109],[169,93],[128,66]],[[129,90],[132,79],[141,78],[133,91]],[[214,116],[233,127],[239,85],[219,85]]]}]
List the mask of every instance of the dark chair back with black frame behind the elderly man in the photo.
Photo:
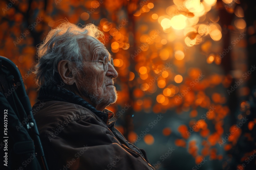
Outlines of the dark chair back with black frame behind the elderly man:
[{"label": "dark chair back with black frame behind the elderly man", "polygon": [[3,168],[48,170],[29,98],[17,66],[0,56],[0,140]]}]

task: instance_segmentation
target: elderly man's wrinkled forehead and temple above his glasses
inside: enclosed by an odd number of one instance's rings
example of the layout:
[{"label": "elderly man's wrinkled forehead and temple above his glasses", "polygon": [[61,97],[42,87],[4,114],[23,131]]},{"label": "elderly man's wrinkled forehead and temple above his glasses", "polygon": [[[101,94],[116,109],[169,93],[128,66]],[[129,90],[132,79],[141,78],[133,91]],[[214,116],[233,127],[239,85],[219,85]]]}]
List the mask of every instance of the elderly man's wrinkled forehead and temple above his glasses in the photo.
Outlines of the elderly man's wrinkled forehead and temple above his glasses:
[{"label": "elderly man's wrinkled forehead and temple above his glasses", "polygon": [[96,38],[90,35],[81,35],[78,40],[81,53],[86,60],[98,60],[99,57],[108,56],[111,58],[111,54]]}]

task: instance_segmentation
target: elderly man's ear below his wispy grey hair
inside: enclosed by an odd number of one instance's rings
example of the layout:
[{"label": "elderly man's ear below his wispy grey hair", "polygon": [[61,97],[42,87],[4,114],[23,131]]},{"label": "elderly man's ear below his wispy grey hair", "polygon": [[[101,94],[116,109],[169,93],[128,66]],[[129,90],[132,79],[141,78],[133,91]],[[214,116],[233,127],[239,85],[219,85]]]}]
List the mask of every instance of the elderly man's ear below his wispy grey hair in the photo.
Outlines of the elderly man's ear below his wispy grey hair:
[{"label": "elderly man's ear below his wispy grey hair", "polygon": [[58,72],[60,78],[62,79],[63,83],[67,85],[73,85],[76,82],[74,73],[72,73],[74,70],[71,69],[73,68],[71,64],[72,63],[70,63],[68,60],[60,60],[58,63]]}]

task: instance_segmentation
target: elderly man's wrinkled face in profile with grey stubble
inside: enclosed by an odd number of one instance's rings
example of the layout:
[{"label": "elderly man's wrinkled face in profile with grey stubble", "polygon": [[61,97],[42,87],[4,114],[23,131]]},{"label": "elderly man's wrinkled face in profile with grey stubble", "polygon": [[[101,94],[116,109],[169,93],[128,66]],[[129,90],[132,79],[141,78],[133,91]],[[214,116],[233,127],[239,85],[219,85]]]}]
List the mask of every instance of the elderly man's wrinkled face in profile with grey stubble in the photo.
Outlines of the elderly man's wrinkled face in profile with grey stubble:
[{"label": "elderly man's wrinkled face in profile with grey stubble", "polygon": [[[84,60],[104,60],[110,57],[104,45],[91,36],[79,40],[79,46]],[[78,88],[81,95],[90,97],[95,104],[111,104],[117,99],[117,93],[113,79],[118,76],[114,67],[109,64],[108,71],[104,71],[102,62],[82,61]]]}]

